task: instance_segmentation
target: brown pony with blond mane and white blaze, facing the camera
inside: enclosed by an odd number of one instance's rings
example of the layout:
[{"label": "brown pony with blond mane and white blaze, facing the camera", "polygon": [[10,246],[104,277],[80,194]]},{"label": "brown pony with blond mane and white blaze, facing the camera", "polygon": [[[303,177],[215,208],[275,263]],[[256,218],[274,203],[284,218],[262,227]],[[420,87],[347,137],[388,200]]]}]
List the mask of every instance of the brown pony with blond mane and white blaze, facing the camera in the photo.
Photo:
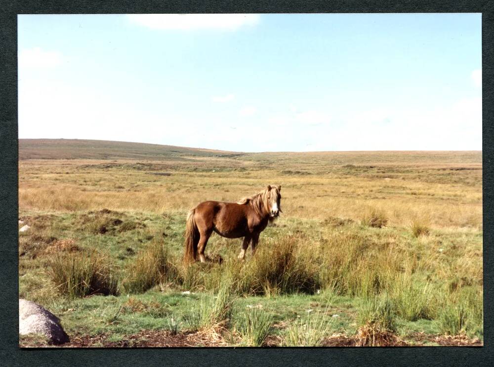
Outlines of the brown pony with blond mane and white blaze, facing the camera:
[{"label": "brown pony with blond mane and white blaze, facing the camera", "polygon": [[204,201],[187,215],[185,229],[184,262],[199,259],[206,262],[204,249],[213,230],[227,238],[244,237],[239,259],[244,259],[248,244],[252,240],[252,254],[259,241],[259,234],[281,212],[281,186],[268,187],[261,192],[244,197],[237,203]]}]

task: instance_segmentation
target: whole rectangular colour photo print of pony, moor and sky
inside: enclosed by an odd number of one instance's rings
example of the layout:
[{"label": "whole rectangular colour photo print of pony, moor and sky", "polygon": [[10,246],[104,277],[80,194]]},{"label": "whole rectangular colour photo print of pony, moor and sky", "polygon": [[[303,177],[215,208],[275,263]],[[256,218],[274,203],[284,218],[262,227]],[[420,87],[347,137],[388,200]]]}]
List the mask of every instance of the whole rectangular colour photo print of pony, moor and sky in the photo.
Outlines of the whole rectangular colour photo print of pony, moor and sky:
[{"label": "whole rectangular colour photo print of pony, moor and sky", "polygon": [[18,15],[19,347],[483,346],[481,21]]}]

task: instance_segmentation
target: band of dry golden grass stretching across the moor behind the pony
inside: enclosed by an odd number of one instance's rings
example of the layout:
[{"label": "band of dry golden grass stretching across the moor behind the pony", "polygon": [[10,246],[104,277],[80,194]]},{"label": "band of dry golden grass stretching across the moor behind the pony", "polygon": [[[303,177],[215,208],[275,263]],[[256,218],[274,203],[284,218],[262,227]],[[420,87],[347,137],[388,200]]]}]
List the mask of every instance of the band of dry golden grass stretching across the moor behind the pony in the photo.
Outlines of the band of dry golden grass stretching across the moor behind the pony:
[{"label": "band of dry golden grass stretching across the moor behind the pony", "polygon": [[[19,206],[46,211],[185,211],[209,199],[236,201],[276,183],[283,186],[282,205],[290,217],[359,221],[371,208],[391,226],[407,226],[420,214],[430,218],[432,229],[482,227],[480,160],[452,163],[445,159],[433,165],[431,157],[412,165],[405,153],[403,163],[390,163],[372,153],[377,163],[354,169],[333,163],[345,162],[341,157],[334,160],[329,155],[315,167],[311,158],[316,153],[293,154],[293,162],[280,158],[262,170],[251,157],[245,161],[222,157],[180,163],[144,161],[148,166],[129,160],[24,160],[19,162]],[[352,152],[347,155],[353,157]],[[397,160],[393,154],[391,158]],[[357,163],[356,159],[351,161]],[[194,171],[198,167],[201,171]],[[312,174],[299,174],[301,167]],[[281,174],[285,171],[295,174]],[[162,172],[171,175],[156,175]]]}]

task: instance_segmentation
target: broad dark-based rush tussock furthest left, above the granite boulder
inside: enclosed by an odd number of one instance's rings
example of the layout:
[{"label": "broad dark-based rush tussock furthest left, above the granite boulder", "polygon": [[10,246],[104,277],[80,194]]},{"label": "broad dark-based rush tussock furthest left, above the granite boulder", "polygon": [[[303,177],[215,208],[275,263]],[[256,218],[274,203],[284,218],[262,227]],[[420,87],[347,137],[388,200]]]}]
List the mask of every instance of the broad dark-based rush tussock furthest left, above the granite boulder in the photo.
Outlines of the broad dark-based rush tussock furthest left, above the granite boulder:
[{"label": "broad dark-based rush tussock furthest left, above the granite boulder", "polygon": [[119,293],[118,278],[112,274],[108,258],[96,252],[55,256],[50,273],[58,293],[71,298]]}]

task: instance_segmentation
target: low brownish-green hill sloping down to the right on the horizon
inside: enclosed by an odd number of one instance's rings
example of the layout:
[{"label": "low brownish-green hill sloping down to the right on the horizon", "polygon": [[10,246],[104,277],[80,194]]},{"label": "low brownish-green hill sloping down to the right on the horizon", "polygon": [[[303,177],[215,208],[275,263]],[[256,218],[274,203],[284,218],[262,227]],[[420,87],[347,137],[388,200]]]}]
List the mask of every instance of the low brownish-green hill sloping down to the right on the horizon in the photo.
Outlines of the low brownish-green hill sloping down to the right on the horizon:
[{"label": "low brownish-green hill sloping down to the right on the horizon", "polygon": [[236,156],[223,150],[173,145],[82,139],[19,139],[19,159],[146,159],[170,160],[184,156]]}]

